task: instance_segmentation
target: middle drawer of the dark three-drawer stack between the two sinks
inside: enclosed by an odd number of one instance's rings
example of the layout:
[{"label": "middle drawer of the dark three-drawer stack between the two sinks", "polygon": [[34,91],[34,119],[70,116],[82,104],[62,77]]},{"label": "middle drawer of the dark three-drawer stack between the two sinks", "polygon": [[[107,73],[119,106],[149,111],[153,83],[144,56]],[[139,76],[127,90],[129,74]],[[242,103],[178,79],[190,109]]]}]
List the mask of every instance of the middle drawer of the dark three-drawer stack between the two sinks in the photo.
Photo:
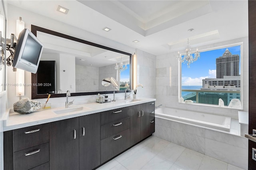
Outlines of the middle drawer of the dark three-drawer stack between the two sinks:
[{"label": "middle drawer of the dark three-drawer stack between the two sinks", "polygon": [[108,123],[106,125],[102,125],[100,128],[100,138],[104,139],[118,132],[122,132],[130,128],[130,117],[126,119],[122,119],[120,121]]}]

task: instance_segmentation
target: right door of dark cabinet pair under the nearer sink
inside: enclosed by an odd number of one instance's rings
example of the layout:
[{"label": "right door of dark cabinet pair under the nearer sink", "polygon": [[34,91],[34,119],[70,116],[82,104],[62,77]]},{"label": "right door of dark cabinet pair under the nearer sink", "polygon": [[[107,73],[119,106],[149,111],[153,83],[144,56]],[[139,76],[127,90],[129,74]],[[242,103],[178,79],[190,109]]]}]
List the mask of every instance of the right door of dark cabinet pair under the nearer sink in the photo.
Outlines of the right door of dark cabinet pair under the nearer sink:
[{"label": "right door of dark cabinet pair under the nearer sink", "polygon": [[79,169],[100,165],[100,113],[79,117]]}]

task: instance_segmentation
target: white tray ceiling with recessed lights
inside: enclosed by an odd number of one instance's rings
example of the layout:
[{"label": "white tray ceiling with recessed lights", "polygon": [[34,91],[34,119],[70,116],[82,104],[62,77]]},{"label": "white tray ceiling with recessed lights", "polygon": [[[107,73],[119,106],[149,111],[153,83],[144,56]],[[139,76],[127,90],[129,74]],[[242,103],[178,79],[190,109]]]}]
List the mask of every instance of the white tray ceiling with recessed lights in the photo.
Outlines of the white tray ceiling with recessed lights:
[{"label": "white tray ceiling with recessed lights", "polygon": [[[248,36],[247,0],[7,2],[154,55],[183,50],[188,38],[198,47]],[[58,5],[68,8],[68,14],[57,12]]]}]

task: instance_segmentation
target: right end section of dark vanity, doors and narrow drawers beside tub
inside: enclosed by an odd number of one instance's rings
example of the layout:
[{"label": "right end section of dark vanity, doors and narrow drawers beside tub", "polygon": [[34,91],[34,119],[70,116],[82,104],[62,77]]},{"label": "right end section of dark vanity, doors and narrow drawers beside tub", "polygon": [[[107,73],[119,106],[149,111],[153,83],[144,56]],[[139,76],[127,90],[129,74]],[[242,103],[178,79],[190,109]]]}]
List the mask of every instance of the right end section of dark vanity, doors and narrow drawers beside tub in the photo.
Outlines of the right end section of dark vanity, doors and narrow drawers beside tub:
[{"label": "right end section of dark vanity, doors and narrow drawers beside tub", "polygon": [[155,132],[154,110],[154,102],[131,106],[131,145]]}]

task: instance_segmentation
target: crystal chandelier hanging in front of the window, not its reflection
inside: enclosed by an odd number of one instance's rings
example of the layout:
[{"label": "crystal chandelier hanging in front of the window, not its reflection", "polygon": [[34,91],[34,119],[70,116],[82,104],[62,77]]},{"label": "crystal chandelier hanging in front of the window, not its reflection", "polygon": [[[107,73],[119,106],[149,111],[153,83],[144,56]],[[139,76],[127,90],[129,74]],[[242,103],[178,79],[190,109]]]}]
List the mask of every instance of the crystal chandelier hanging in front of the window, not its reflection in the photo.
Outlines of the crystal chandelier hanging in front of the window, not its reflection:
[{"label": "crystal chandelier hanging in front of the window, not its reflection", "polygon": [[186,44],[184,57],[182,58],[182,54],[178,52],[177,59],[182,63],[187,63],[188,68],[190,68],[190,64],[193,63],[193,61],[196,61],[200,57],[200,53],[198,52],[198,49],[196,49],[196,53],[194,53],[194,57],[192,54],[193,53],[191,52],[190,43],[188,42]]}]

